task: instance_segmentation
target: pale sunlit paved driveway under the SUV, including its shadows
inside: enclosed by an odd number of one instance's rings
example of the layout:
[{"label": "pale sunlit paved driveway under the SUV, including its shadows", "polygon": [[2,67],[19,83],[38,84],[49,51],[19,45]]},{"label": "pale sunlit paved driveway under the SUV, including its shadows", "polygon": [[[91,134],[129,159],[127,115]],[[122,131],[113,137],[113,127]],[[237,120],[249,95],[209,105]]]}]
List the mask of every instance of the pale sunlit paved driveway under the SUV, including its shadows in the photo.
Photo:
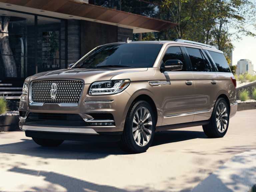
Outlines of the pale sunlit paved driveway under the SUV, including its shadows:
[{"label": "pale sunlit paved driveway under the SUV, including its shadows", "polygon": [[237,112],[224,138],[202,127],[155,135],[146,153],[116,143],[36,145],[23,132],[0,133],[0,191],[190,191],[235,154],[256,149],[256,110]]}]

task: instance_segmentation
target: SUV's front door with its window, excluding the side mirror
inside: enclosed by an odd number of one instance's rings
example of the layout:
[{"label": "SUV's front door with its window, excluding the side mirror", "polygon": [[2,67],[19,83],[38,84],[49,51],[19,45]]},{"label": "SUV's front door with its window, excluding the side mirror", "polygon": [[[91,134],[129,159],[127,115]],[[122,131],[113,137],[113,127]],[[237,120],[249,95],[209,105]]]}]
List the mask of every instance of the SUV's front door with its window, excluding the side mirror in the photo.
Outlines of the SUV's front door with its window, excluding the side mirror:
[{"label": "SUV's front door with its window, excluding the side mirror", "polygon": [[183,48],[179,46],[169,46],[162,58],[162,64],[167,60],[177,59],[183,63],[181,71],[165,71],[161,74],[160,81],[169,82],[168,85],[161,87],[162,126],[192,122],[194,118],[195,84],[193,73],[187,65],[187,60],[184,59],[182,50]]}]

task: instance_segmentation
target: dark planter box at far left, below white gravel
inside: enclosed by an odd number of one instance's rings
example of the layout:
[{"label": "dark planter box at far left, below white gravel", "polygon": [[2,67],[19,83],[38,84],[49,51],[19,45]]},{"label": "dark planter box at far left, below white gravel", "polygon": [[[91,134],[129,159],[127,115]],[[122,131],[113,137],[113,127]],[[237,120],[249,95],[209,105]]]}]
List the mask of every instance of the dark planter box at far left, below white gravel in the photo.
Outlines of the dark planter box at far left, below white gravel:
[{"label": "dark planter box at far left, below white gravel", "polygon": [[0,116],[0,132],[1,131],[18,131],[19,115]]}]

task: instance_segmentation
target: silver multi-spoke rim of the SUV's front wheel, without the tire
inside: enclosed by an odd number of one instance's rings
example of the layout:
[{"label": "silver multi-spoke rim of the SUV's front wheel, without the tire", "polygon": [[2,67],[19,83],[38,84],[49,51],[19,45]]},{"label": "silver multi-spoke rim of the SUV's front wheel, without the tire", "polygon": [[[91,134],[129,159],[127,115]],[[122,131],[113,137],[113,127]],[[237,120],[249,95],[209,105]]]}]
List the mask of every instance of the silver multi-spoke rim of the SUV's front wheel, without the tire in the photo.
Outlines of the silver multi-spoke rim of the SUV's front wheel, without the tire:
[{"label": "silver multi-spoke rim of the SUV's front wheel, without the tire", "polygon": [[145,107],[139,107],[133,117],[132,133],[134,141],[139,146],[145,146],[152,135],[152,116]]}]

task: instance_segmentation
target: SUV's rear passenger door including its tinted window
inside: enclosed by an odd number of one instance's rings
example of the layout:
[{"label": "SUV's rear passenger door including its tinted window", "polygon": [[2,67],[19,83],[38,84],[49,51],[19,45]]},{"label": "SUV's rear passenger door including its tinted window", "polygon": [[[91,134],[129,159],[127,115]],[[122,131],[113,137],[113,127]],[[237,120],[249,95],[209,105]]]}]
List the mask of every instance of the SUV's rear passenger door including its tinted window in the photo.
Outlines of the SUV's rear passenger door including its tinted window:
[{"label": "SUV's rear passenger door including its tinted window", "polygon": [[208,120],[218,92],[217,75],[206,54],[197,47],[186,47],[195,81],[195,115],[193,121]]}]

